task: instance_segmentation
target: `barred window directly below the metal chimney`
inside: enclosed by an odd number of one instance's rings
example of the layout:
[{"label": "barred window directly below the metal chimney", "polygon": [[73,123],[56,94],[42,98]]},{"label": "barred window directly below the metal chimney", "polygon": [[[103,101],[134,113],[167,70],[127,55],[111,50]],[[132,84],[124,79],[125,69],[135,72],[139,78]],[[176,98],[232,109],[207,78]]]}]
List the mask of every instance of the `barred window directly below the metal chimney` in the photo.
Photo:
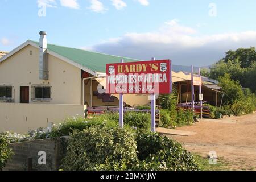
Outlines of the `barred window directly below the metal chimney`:
[{"label": "barred window directly below the metal chimney", "polygon": [[34,101],[49,101],[51,100],[51,86],[36,85],[33,86]]}]

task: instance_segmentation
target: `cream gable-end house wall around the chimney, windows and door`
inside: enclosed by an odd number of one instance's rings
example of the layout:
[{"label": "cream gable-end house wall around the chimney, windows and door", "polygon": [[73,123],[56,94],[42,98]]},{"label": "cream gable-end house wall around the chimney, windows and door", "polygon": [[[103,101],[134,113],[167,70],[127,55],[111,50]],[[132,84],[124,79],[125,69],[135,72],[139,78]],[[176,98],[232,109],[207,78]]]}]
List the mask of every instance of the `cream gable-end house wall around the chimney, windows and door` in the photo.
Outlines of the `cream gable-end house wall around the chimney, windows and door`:
[{"label": "cream gable-end house wall around the chimney, windows and door", "polygon": [[26,46],[0,63],[0,85],[13,86],[15,103],[19,103],[20,86],[49,84],[51,104],[81,104],[81,70],[71,64],[48,55],[49,80],[39,79],[39,50]]}]

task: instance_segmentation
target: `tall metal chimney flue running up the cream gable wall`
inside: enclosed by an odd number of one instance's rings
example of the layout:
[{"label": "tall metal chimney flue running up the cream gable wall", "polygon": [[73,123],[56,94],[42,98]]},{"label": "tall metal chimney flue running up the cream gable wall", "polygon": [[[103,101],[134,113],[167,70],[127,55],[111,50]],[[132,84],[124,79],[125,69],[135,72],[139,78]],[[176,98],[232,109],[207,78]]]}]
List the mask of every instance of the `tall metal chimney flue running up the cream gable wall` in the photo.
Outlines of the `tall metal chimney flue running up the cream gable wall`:
[{"label": "tall metal chimney flue running up the cream gable wall", "polygon": [[39,40],[39,79],[48,80],[48,60],[47,60],[47,39],[46,32],[40,31]]}]

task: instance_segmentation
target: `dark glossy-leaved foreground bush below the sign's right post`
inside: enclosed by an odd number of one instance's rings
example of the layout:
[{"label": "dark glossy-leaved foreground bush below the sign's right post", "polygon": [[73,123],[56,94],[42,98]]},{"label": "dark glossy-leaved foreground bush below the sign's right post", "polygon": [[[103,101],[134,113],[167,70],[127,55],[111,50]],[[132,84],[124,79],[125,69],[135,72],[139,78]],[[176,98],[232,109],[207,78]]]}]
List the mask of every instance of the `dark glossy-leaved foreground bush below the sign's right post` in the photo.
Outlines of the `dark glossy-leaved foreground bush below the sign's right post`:
[{"label": "dark glossy-leaved foreground bush below the sign's right post", "polygon": [[180,143],[158,133],[143,132],[137,135],[139,170],[198,170],[193,156],[183,150]]}]

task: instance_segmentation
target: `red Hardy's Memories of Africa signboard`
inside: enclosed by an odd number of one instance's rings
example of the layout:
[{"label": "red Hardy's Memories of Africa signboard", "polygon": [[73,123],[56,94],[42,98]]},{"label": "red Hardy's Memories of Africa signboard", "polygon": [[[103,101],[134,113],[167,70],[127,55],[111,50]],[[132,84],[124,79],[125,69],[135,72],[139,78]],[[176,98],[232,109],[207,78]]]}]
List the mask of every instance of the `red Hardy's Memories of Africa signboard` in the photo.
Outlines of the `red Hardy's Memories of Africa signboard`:
[{"label": "red Hardy's Memories of Africa signboard", "polygon": [[167,94],[171,60],[106,64],[106,93]]}]

